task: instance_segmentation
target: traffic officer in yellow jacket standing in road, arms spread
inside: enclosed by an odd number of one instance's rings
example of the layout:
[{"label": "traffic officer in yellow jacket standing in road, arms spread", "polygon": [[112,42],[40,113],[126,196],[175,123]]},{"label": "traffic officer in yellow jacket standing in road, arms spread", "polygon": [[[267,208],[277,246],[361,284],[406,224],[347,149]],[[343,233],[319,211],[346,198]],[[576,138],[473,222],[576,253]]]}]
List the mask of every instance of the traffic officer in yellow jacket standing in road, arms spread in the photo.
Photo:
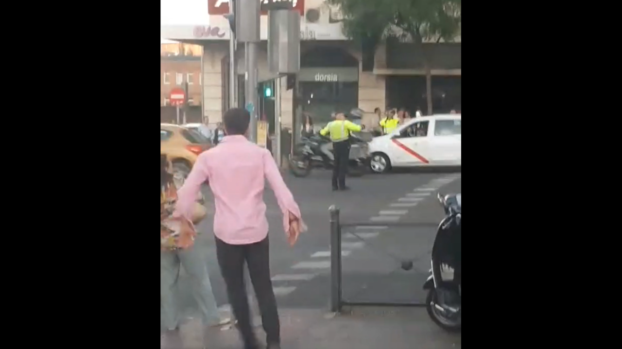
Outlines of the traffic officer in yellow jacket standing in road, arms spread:
[{"label": "traffic officer in yellow jacket standing in road, arms spread", "polygon": [[365,128],[364,125],[353,124],[345,118],[343,112],[337,112],[335,113],[335,120],[320,130],[320,135],[330,134],[330,140],[333,142],[333,154],[335,154],[333,191],[350,189],[346,187],[346,172],[350,159],[350,132],[361,132]]}]

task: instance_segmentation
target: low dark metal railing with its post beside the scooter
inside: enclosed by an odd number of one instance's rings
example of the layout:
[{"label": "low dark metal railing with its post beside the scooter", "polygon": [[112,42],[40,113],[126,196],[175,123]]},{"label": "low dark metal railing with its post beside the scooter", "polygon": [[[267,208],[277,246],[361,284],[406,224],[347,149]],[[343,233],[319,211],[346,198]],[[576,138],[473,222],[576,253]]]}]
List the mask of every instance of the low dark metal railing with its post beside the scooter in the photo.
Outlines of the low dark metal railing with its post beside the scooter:
[{"label": "low dark metal railing with its post beside the scooter", "polygon": [[[389,307],[422,307],[425,302],[389,302],[379,299],[378,301],[350,301],[344,299],[342,291],[342,253],[341,238],[342,228],[344,227],[425,227],[436,230],[438,223],[418,223],[418,222],[341,222],[340,209],[335,205],[330,206],[330,311],[340,312],[343,306],[389,306]],[[432,248],[432,246],[430,246]],[[412,261],[401,261],[403,270],[412,269]],[[404,276],[407,277],[407,276]],[[420,285],[421,287],[423,284]],[[413,290],[414,291],[414,290]]]}]

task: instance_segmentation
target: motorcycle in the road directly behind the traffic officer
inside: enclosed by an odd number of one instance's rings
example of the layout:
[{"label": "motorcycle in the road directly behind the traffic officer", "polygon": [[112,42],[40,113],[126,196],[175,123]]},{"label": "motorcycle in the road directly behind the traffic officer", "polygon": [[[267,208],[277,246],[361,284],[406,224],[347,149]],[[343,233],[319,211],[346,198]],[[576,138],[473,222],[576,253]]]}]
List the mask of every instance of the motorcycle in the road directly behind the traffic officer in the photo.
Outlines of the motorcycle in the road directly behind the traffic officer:
[{"label": "motorcycle in the road directly behind the traffic officer", "polygon": [[[348,160],[348,175],[360,177],[367,171],[369,158],[367,142],[355,135],[350,135],[350,160]],[[313,135],[302,138],[302,142],[294,147],[289,158],[289,170],[296,177],[309,176],[313,167],[332,168],[335,163],[333,143],[326,137]]]}]

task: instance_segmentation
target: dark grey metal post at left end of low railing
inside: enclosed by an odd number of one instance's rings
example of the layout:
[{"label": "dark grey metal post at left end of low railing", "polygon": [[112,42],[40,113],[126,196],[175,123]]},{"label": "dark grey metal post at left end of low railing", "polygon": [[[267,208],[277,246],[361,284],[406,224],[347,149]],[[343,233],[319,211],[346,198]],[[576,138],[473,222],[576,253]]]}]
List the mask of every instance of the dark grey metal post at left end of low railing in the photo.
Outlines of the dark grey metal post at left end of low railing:
[{"label": "dark grey metal post at left end of low railing", "polygon": [[330,311],[341,311],[341,227],[339,209],[332,205],[330,212]]}]

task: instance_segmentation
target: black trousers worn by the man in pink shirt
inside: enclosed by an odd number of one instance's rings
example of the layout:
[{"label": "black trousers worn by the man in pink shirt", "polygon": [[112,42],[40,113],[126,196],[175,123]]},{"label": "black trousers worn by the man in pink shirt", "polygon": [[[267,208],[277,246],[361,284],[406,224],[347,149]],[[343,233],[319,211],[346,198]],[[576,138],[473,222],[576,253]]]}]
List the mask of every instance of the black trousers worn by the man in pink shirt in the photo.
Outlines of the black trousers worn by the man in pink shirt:
[{"label": "black trousers worn by the man in pink shirt", "polygon": [[258,348],[258,343],[253,333],[248,295],[244,285],[244,261],[248,265],[251,283],[259,303],[261,322],[266,331],[266,343],[281,343],[281,324],[270,279],[269,247],[267,237],[248,245],[230,245],[216,238],[218,265],[225,279],[233,315],[238,320],[238,330],[244,341],[244,348],[247,349]]}]

